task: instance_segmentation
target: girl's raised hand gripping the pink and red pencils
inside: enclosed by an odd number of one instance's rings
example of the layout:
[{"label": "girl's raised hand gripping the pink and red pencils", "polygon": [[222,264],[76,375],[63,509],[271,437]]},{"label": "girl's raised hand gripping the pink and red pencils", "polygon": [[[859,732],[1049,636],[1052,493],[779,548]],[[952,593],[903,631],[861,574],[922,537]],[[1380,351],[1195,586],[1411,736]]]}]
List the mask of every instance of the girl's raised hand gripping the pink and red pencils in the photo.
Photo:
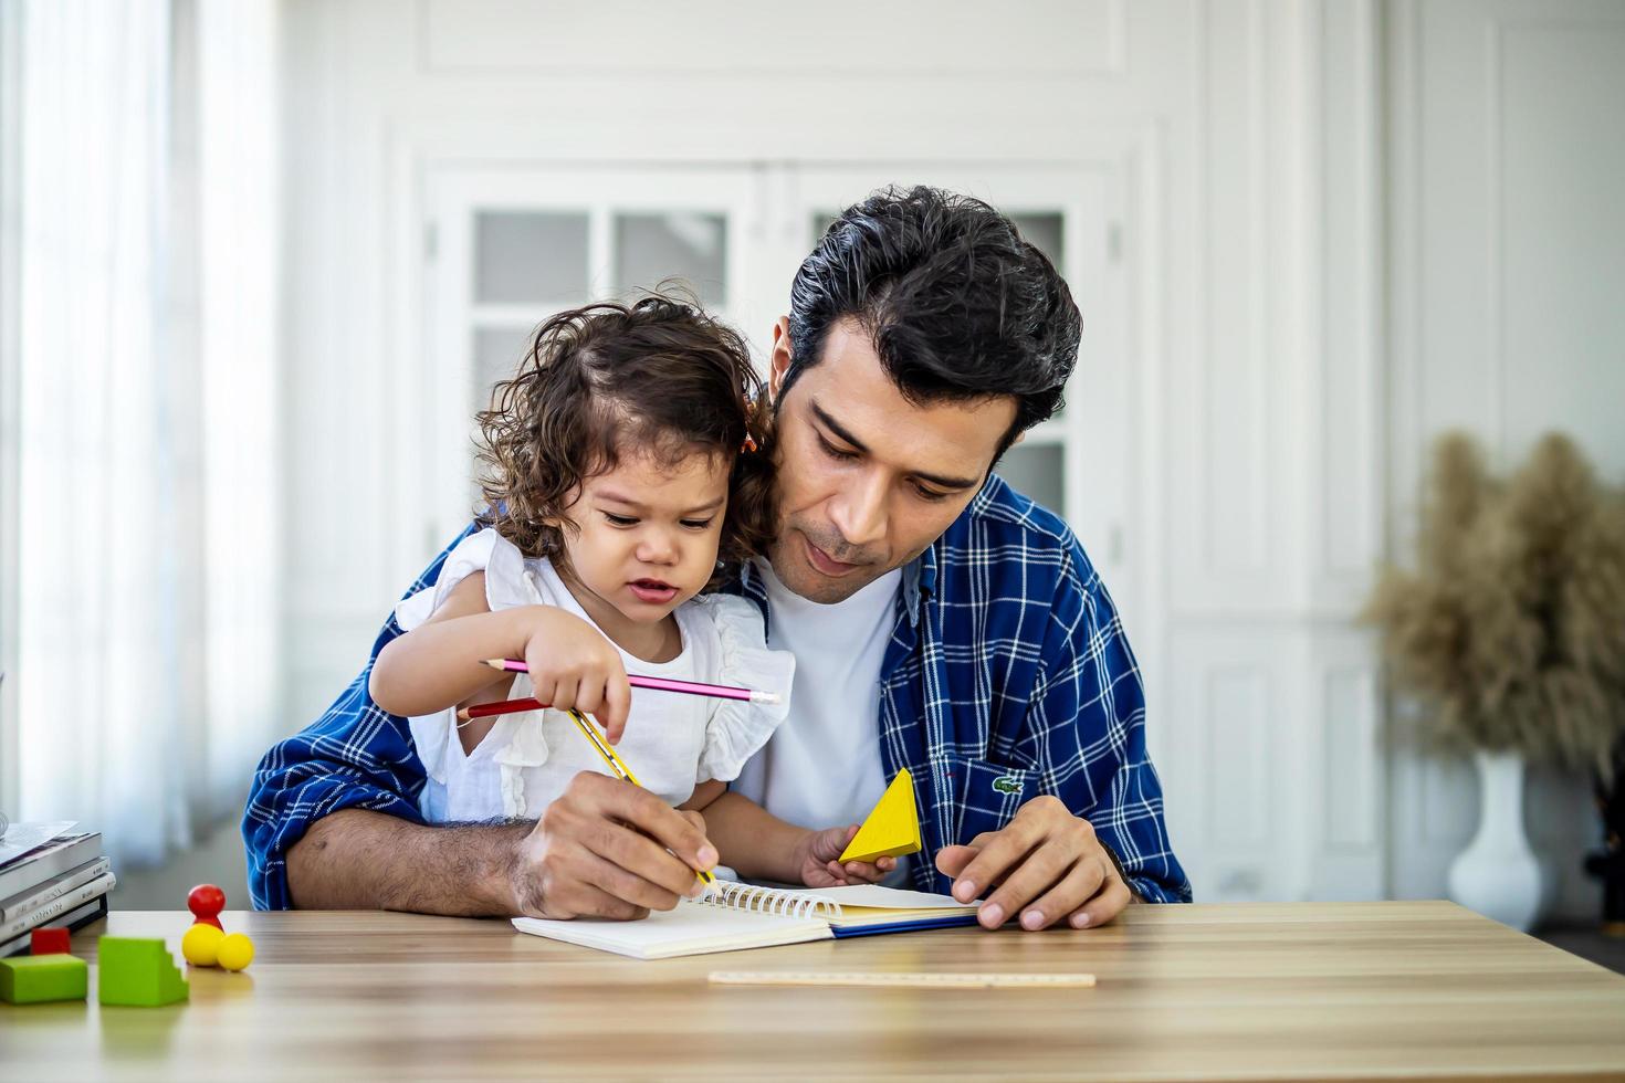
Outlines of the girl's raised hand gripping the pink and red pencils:
[{"label": "girl's raised hand gripping the pink and red pencils", "polygon": [[536,698],[561,711],[592,714],[609,744],[621,740],[632,708],[621,651],[580,617],[552,606],[533,606],[525,664]]}]

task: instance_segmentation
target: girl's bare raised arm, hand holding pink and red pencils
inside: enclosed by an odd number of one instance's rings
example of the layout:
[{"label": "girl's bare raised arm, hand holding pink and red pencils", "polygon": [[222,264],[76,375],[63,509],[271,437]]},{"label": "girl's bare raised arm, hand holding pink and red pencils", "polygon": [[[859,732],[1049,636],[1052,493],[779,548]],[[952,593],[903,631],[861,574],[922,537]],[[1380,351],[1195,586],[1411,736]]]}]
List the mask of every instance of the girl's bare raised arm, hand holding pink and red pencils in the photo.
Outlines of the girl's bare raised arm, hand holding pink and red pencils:
[{"label": "girl's bare raised arm, hand holding pink and red pencils", "polygon": [[463,705],[494,685],[500,685],[500,697],[514,675],[483,659],[523,658],[536,698],[596,714],[609,740],[619,740],[630,688],[614,646],[580,617],[552,606],[491,612],[484,580],[483,572],[462,580],[429,620],[379,651],[367,679],[374,703],[413,718]]}]

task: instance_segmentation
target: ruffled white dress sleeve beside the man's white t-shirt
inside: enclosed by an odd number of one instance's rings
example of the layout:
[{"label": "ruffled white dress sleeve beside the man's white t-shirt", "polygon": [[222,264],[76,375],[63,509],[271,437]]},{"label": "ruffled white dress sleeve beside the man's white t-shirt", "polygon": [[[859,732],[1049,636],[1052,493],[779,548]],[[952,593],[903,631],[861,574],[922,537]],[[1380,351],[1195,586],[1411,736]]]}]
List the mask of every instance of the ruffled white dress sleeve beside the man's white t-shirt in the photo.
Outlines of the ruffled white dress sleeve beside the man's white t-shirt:
[{"label": "ruffled white dress sleeve beside the man's white t-shirt", "polygon": [[790,651],[767,649],[762,614],[754,602],[731,594],[705,594],[694,599],[717,630],[717,672],[705,677],[715,684],[775,692],[778,703],[717,700],[705,724],[705,747],[700,752],[696,783],[739,778],[744,762],[756,755],[790,716],[790,685],[796,658]]}]

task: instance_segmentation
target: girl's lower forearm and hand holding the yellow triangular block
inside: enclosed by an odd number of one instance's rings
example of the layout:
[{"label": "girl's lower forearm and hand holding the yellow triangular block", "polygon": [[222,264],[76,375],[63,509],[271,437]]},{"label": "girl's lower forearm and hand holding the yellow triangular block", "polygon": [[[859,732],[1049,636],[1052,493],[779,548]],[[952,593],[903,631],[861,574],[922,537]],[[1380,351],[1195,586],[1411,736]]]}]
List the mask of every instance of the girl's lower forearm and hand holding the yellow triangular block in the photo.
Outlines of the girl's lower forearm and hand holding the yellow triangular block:
[{"label": "girl's lower forearm and hand holding the yellow triangular block", "polygon": [[[722,854],[722,864],[746,880],[777,880],[829,888],[843,883],[874,883],[897,867],[895,857],[878,862],[837,859],[858,833],[858,825],[798,828],[736,792],[722,792],[722,783],[702,783],[684,809],[705,818],[705,836]],[[717,787],[717,789],[708,789]],[[705,804],[697,804],[710,794]]]}]

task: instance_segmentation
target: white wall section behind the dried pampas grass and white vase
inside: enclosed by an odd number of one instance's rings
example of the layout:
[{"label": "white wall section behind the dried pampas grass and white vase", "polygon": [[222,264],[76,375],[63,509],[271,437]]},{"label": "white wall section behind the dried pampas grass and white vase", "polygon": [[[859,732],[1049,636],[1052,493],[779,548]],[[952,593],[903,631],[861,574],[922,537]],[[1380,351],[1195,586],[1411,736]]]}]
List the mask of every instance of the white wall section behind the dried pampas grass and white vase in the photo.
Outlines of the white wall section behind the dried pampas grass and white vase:
[{"label": "white wall section behind the dried pampas grass and white vase", "polygon": [[[1407,0],[1388,44],[1389,505],[1407,549],[1428,443],[1450,427],[1502,468],[1562,429],[1625,481],[1625,5]],[[1441,895],[1477,783],[1404,749],[1391,770],[1393,888]],[[1558,913],[1594,919],[1584,779],[1536,773],[1526,818]]]}]

